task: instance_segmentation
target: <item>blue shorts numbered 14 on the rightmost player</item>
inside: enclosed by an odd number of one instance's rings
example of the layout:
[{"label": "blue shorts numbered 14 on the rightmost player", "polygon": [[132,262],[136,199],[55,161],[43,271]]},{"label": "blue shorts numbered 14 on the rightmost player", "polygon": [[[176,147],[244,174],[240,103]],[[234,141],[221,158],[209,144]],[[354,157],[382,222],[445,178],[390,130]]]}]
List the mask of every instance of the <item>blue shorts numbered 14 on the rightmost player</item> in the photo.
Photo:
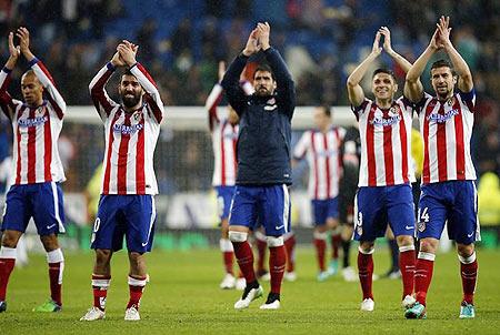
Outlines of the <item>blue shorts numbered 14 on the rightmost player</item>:
[{"label": "blue shorts numbered 14 on the rightmost player", "polygon": [[448,236],[461,244],[480,240],[478,193],[472,181],[449,181],[422,185],[418,237],[440,238],[448,221]]}]

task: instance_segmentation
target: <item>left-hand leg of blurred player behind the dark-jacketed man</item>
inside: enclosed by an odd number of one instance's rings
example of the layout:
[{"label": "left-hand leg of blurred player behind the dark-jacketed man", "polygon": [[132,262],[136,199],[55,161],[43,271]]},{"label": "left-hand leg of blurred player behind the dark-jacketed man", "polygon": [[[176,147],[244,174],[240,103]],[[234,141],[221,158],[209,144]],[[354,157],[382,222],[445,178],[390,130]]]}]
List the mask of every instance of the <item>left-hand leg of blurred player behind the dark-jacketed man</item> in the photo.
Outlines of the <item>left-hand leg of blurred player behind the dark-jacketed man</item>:
[{"label": "left-hand leg of blurred player behind the dark-jacketed man", "polygon": [[220,219],[221,236],[219,241],[220,251],[222,253],[222,262],[224,265],[224,277],[220,283],[220,288],[234,288],[236,278],[232,272],[232,260],[234,257],[234,250],[231,241],[229,241],[229,209],[231,207],[232,195],[234,194],[233,186],[218,186],[217,191],[217,204]]}]

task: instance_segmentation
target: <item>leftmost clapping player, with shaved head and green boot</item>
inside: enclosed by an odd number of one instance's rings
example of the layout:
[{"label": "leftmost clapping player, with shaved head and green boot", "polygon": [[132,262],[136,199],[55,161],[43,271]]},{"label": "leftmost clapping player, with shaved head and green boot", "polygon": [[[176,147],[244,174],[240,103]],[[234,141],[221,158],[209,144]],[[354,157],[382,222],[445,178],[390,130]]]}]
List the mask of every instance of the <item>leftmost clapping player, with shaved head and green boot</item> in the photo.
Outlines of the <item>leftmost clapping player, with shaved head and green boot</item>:
[{"label": "leftmost clapping player, with shaved head and green boot", "polygon": [[[13,131],[12,186],[6,199],[3,236],[0,248],[0,312],[7,308],[6,291],[17,260],[19,238],[33,217],[47,252],[50,300],[34,312],[59,312],[62,307],[61,285],[64,257],[58,234],[64,233],[64,210],[60,183],[66,180],[58,152],[58,139],[66,112],[66,102],[56,89],[49,71],[30,50],[30,33],[17,30],[19,45],[9,33],[10,57],[0,72],[0,105],[10,119]],[[7,92],[10,73],[22,54],[31,70],[21,78],[24,102]],[[47,100],[43,99],[47,92]]]}]

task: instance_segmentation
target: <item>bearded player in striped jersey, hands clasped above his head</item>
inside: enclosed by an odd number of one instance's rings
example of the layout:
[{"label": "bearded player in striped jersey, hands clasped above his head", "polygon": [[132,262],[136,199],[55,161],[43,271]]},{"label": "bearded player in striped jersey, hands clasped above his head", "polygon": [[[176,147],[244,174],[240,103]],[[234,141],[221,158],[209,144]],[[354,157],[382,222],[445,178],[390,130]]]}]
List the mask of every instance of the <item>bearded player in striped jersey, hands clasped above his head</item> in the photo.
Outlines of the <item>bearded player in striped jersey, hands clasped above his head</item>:
[{"label": "bearded player in striped jersey, hands clasped above his head", "polygon": [[[154,235],[158,193],[153,153],[163,119],[163,103],[154,81],[136,61],[137,45],[123,41],[90,82],[90,95],[104,123],[106,151],[101,200],[92,232],[96,263],[92,273],[93,306],[81,321],[104,318],[111,281],[111,256],[122,248],[123,235],[130,261],[130,300],[124,319],[138,321],[142,291],[148,282],[146,255]],[[122,103],[104,90],[117,68],[126,68],[118,85]]]}]

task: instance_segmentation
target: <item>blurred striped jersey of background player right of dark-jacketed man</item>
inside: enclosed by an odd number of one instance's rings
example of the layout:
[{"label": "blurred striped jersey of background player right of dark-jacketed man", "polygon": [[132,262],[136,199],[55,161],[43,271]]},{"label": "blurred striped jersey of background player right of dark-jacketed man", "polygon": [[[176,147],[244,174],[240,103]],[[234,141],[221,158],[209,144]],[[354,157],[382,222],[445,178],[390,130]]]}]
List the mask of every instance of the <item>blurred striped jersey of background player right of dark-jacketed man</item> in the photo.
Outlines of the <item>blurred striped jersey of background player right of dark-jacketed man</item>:
[{"label": "blurred striped jersey of background player right of dark-jacketed man", "polygon": [[339,194],[342,175],[341,145],[346,130],[331,126],[326,133],[310,130],[302,134],[293,150],[293,158],[307,155],[309,164],[309,195],[313,200],[333,199]]}]

